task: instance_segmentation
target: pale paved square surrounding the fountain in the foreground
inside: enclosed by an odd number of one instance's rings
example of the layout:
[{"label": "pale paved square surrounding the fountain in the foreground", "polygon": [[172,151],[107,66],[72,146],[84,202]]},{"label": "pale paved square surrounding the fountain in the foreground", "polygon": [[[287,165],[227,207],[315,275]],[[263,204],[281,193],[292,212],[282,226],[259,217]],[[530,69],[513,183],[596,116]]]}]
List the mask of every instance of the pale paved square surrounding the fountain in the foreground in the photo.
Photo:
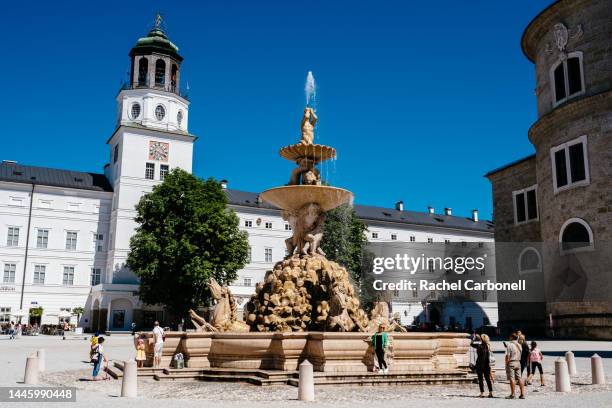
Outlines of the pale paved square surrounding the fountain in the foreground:
[{"label": "pale paved square surrounding the fountain in the foreground", "polygon": [[[133,357],[129,337],[114,336],[108,339],[107,352],[117,360]],[[572,378],[572,392],[561,394],[554,391],[553,361],[564,350],[571,348],[577,355],[590,355],[597,351],[604,359],[608,379],[612,376],[612,343],[610,342],[542,342],[545,356],[545,380],[547,385],[527,387],[527,399],[505,400],[509,393],[503,370],[498,370],[494,385],[495,399],[476,398],[478,386],[431,385],[431,386],[319,386],[316,387],[314,404],[297,401],[297,388],[290,386],[259,387],[240,383],[219,382],[157,382],[139,379],[137,400],[117,398],[121,381],[89,381],[91,369],[84,362],[87,342],[61,341],[57,338],[22,338],[9,342],[0,338],[0,364],[8,370],[0,370],[0,385],[19,385],[23,378],[25,357],[37,348],[44,347],[47,353],[47,372],[41,375],[41,383],[54,386],[77,387],[77,403],[73,406],[117,408],[119,406],[146,405],[147,407],[207,406],[207,407],[287,407],[287,406],[333,406],[333,407],[509,407],[516,404],[526,407],[606,407],[612,406],[612,383],[603,386],[590,385],[590,366],[587,357],[576,359],[578,375]],[[495,343],[495,350],[503,350]],[[502,361],[501,353],[497,360]],[[534,384],[537,383],[534,381]],[[7,404],[5,404],[7,405]],[[11,404],[13,405],[13,404]],[[22,406],[34,404],[22,403]],[[0,403],[2,406],[2,403]],[[40,406],[38,404],[37,406]]]}]

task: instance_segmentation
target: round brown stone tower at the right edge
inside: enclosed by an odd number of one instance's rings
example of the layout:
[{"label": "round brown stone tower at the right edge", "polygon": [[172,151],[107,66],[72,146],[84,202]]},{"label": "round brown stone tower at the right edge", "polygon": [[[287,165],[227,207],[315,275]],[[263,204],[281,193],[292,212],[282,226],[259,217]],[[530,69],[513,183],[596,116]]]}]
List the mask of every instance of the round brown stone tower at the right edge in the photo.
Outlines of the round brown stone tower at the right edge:
[{"label": "round brown stone tower at the right edge", "polygon": [[555,336],[612,337],[610,38],[609,0],[560,0],[521,40],[536,69],[538,120],[529,139]]}]

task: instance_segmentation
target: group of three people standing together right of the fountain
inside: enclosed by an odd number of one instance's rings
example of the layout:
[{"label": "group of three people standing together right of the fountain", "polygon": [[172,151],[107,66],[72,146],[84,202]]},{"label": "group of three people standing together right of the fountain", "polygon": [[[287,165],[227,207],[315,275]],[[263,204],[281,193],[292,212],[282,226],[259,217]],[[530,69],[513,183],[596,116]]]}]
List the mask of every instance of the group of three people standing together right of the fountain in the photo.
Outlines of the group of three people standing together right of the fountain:
[{"label": "group of three people standing together right of the fountain", "polygon": [[[478,376],[478,387],[480,388],[480,397],[485,397],[484,383],[486,382],[489,390],[489,398],[493,398],[493,374],[492,366],[495,364],[493,357],[493,349],[489,336],[486,334],[476,335],[471,343],[471,346],[476,349],[476,362],[473,365],[476,375]],[[544,358],[542,351],[538,348],[538,344],[532,341],[527,345],[525,336],[520,332],[514,332],[509,337],[509,342],[504,342],[506,353],[504,363],[506,369],[506,377],[510,383],[510,395],[506,398],[516,398],[516,386],[519,386],[520,399],[525,399],[525,385],[531,385],[533,376],[536,370],[540,374],[540,385],[544,386],[544,371],[542,369],[542,360]],[[527,371],[527,377],[523,380],[523,373]]]}]

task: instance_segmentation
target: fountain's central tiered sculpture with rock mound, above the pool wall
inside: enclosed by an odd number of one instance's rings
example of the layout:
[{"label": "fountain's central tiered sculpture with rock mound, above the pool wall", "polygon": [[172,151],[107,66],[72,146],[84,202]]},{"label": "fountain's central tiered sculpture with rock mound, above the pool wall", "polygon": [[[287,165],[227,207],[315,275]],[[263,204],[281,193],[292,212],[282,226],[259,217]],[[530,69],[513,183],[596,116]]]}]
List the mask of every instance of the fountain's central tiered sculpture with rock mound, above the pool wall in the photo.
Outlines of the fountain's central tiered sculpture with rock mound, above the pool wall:
[{"label": "fountain's central tiered sculpture with rock mound, above the pool wall", "polygon": [[287,256],[268,271],[245,306],[252,331],[366,331],[368,317],[349,281],[347,270],[329,261],[320,247],[325,213],[350,203],[353,194],[322,185],[317,164],[336,150],[314,143],[317,116],[306,107],[299,143],[285,146],[281,157],[295,162],[289,183],[261,193],[280,208],[293,235],[285,241]]}]

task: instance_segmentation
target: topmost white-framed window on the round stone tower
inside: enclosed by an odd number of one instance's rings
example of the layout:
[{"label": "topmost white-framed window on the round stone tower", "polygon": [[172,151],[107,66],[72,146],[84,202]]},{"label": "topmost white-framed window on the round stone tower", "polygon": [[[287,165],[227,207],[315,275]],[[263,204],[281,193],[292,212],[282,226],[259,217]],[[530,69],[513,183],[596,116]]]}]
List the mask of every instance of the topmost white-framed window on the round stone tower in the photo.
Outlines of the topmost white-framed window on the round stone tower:
[{"label": "topmost white-framed window on the round stone tower", "polygon": [[567,58],[557,61],[550,71],[553,106],[584,93],[582,52],[571,52]]}]

